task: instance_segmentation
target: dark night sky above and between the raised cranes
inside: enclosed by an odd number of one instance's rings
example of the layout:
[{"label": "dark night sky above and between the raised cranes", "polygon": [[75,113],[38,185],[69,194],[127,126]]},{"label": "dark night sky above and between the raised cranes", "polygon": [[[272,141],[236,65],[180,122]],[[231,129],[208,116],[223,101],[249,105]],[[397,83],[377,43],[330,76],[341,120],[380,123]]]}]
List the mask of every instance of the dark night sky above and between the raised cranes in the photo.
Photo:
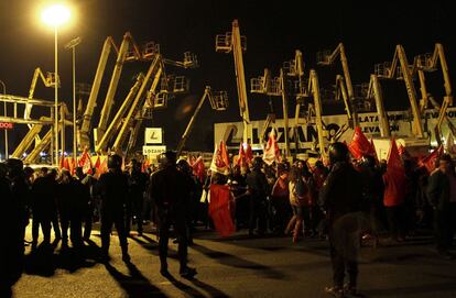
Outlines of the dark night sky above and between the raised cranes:
[{"label": "dark night sky above and between the raised cranes", "polygon": [[[26,97],[34,68],[40,66],[45,71],[53,70],[53,32],[37,24],[34,5],[39,2],[0,1],[0,79],[7,84],[8,93]],[[354,84],[368,81],[373,64],[390,60],[398,43],[404,46],[411,60],[414,55],[432,52],[434,43],[441,42],[446,51],[450,74],[455,68],[454,10],[450,9],[449,1],[274,2],[275,4],[271,1],[249,0],[74,1],[78,20],[73,26],[62,29],[58,35],[61,98],[70,103],[72,60],[70,53],[63,45],[75,36],[83,37],[83,43],[77,47],[77,81],[89,84],[108,35],[112,35],[120,44],[123,33],[130,31],[139,44],[155,41],[161,44],[162,54],[174,59],[181,59],[183,52],[192,51],[198,55],[200,68],[167,69],[167,73],[175,70],[192,79],[189,95],[176,97],[166,110],[156,111],[153,121],[146,124],[163,126],[165,141],[173,147],[191,115],[182,113],[183,106],[196,104],[206,85],[210,85],[214,90],[227,90],[230,98],[228,111],[215,114],[207,103],[187,143],[192,150],[211,151],[213,123],[240,121],[232,56],[215,52],[215,35],[230,31],[234,19],[239,19],[241,33],[247,36],[245,66],[248,88],[250,78],[262,75],[264,67],[278,74],[279,67],[293,57],[295,49],[303,52],[308,69],[315,67],[317,51],[334,49],[339,42],[345,44]],[[111,56],[107,69],[112,69],[112,66]],[[133,75],[145,70],[146,65],[126,64],[123,69],[117,103],[128,92]],[[317,67],[317,70],[321,85],[325,87],[334,81],[336,73],[340,73],[340,66],[333,69]],[[107,73],[104,81],[109,78],[110,74]],[[443,90],[439,79],[437,75],[436,93]],[[403,85],[390,85],[383,87],[388,89],[384,90],[387,107],[406,104]],[[389,91],[389,88],[394,91]],[[106,89],[101,89],[99,102],[105,95]],[[35,97],[53,100],[53,91],[39,85]],[[275,112],[280,114],[280,98],[274,98],[273,101]],[[265,96],[249,95],[249,104],[253,120],[265,118],[269,109]],[[98,108],[101,106],[99,103]],[[19,130],[15,134],[11,142],[17,144],[21,137]],[[140,137],[139,144],[143,136]]]}]

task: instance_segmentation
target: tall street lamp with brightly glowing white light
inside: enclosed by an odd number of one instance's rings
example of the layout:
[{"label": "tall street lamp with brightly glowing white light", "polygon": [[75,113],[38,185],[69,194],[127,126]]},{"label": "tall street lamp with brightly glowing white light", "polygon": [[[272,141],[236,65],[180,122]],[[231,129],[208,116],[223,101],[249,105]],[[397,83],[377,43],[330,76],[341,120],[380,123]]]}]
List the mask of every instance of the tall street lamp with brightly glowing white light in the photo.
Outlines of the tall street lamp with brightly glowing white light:
[{"label": "tall street lamp with brightly glowing white light", "polygon": [[[59,25],[66,23],[69,20],[69,9],[63,4],[52,4],[45,8],[41,13],[41,20],[54,27],[54,66],[55,66],[55,90],[54,90],[54,137],[55,137],[55,165],[58,166],[58,40],[57,29]],[[64,150],[64,148],[62,148]]]}]

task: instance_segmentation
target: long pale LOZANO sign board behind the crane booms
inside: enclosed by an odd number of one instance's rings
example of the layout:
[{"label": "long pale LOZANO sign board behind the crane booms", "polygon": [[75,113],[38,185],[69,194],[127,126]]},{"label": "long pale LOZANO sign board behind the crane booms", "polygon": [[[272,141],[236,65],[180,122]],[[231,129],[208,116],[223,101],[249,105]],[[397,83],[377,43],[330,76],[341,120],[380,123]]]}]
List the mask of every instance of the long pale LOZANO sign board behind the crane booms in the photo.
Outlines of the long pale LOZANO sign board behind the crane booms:
[{"label": "long pale LOZANO sign board behind the crane booms", "polygon": [[[446,115],[448,117],[449,121],[455,123],[456,108],[448,108]],[[438,112],[435,112],[434,110],[426,110],[425,119],[423,118],[421,121],[423,126],[427,125],[427,131],[433,131],[434,126],[437,123],[437,118]],[[358,120],[359,126],[368,139],[376,139],[380,136],[378,113],[359,113]],[[408,111],[389,111],[388,120],[390,123],[391,135],[394,135],[397,139],[401,137],[405,140],[413,136],[411,132],[411,115]],[[302,119],[301,122],[303,123],[305,120]],[[346,114],[324,115],[323,122],[325,123],[324,140],[326,145],[329,144],[330,137],[336,134],[340,135],[338,141],[345,141],[347,143],[351,142],[354,130],[348,126]],[[249,134],[251,135],[252,148],[261,148],[262,144],[268,141],[268,136],[265,140],[260,140],[264,120],[251,121],[250,123],[251,125],[248,126],[248,130]],[[275,129],[279,147],[283,150],[285,147],[283,119],[278,119],[275,123],[272,124],[272,126]],[[272,128],[269,128],[269,131]],[[220,140],[224,140],[229,150],[238,150],[239,143],[242,142],[242,122],[215,123],[214,141],[218,143]],[[442,125],[442,135],[446,139],[448,136],[448,125],[444,122]],[[428,135],[425,133],[425,139],[426,137],[428,137]],[[431,144],[435,145],[435,135],[432,134],[431,137]],[[297,140],[301,150],[304,150],[305,152],[315,151],[318,144],[318,132],[315,123],[300,124],[296,131],[293,130],[292,125],[289,125],[289,139],[292,150],[295,148],[295,140]]]}]

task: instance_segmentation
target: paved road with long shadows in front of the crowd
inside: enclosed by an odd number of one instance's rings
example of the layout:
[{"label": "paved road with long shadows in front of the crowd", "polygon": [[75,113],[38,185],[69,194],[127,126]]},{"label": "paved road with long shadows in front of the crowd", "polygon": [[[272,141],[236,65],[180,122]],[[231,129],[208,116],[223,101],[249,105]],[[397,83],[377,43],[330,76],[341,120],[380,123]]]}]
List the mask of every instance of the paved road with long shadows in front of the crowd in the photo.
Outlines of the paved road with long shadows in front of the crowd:
[{"label": "paved road with long shadows in front of the crowd", "polygon": [[[80,262],[72,253],[34,257],[26,253],[26,273],[14,286],[14,297],[327,297],[330,283],[327,243],[304,240],[293,245],[286,238],[248,239],[242,233],[219,239],[202,232],[189,249],[197,279],[177,275],[175,244],[169,280],[159,274],[155,235],[129,240],[132,264],[121,261],[116,236],[111,238],[112,261],[97,263],[99,232],[85,249]],[[363,247],[360,256],[359,290],[363,297],[456,297],[456,261],[439,258],[428,238],[377,250]]]}]

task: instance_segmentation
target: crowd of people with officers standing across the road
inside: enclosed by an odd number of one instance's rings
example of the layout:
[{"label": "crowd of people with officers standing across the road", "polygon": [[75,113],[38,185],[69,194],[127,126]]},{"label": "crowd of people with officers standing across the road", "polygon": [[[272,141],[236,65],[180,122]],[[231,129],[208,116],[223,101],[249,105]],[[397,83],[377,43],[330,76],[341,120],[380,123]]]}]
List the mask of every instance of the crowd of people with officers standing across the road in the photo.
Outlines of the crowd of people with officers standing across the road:
[{"label": "crowd of people with officers standing across the road", "polygon": [[[0,164],[1,198],[7,210],[0,224],[8,233],[8,241],[0,245],[0,267],[2,276],[8,276],[2,284],[8,289],[21,275],[30,221],[32,253],[39,246],[51,245],[52,231],[54,239],[62,241],[62,250],[67,250],[70,242],[78,251],[84,241],[90,240],[93,223],[100,221],[100,262],[109,262],[112,225],[122,260],[130,262],[128,236],[132,223],[139,236],[144,224],[154,224],[159,229],[162,275],[169,275],[167,242],[173,227],[180,273],[192,277],[196,269],[187,266],[187,245],[192,245],[198,225],[214,228],[206,196],[214,184],[229,186],[229,208],[237,231],[245,229],[251,238],[267,233],[290,236],[292,243],[306,238],[329,240],[335,273],[334,286],[327,291],[336,296],[347,288],[356,291],[356,253],[340,253],[347,249],[338,240],[344,231],[359,241],[371,240],[377,246],[381,244],[380,235],[403,242],[419,228],[433,228],[438,254],[450,257],[448,249],[456,229],[456,174],[449,155],[441,155],[432,173],[406,157],[400,179],[391,176],[386,161],[369,155],[351,159],[341,143],[332,145],[329,157],[330,166],[321,161],[313,166],[306,161],[268,166],[261,157],[254,157],[249,168],[234,166],[229,175],[208,170],[205,179],[195,176],[185,159],[176,161],[173,152],[163,154],[160,166],[149,167],[145,173],[135,159],[122,169],[122,158],[112,155],[109,170],[99,176],[84,174],[83,168],[74,175],[66,169],[34,170],[20,159],[8,159]],[[39,244],[40,229],[43,241]],[[347,255],[352,257],[344,260]],[[344,289],[345,269],[349,283]]]}]

